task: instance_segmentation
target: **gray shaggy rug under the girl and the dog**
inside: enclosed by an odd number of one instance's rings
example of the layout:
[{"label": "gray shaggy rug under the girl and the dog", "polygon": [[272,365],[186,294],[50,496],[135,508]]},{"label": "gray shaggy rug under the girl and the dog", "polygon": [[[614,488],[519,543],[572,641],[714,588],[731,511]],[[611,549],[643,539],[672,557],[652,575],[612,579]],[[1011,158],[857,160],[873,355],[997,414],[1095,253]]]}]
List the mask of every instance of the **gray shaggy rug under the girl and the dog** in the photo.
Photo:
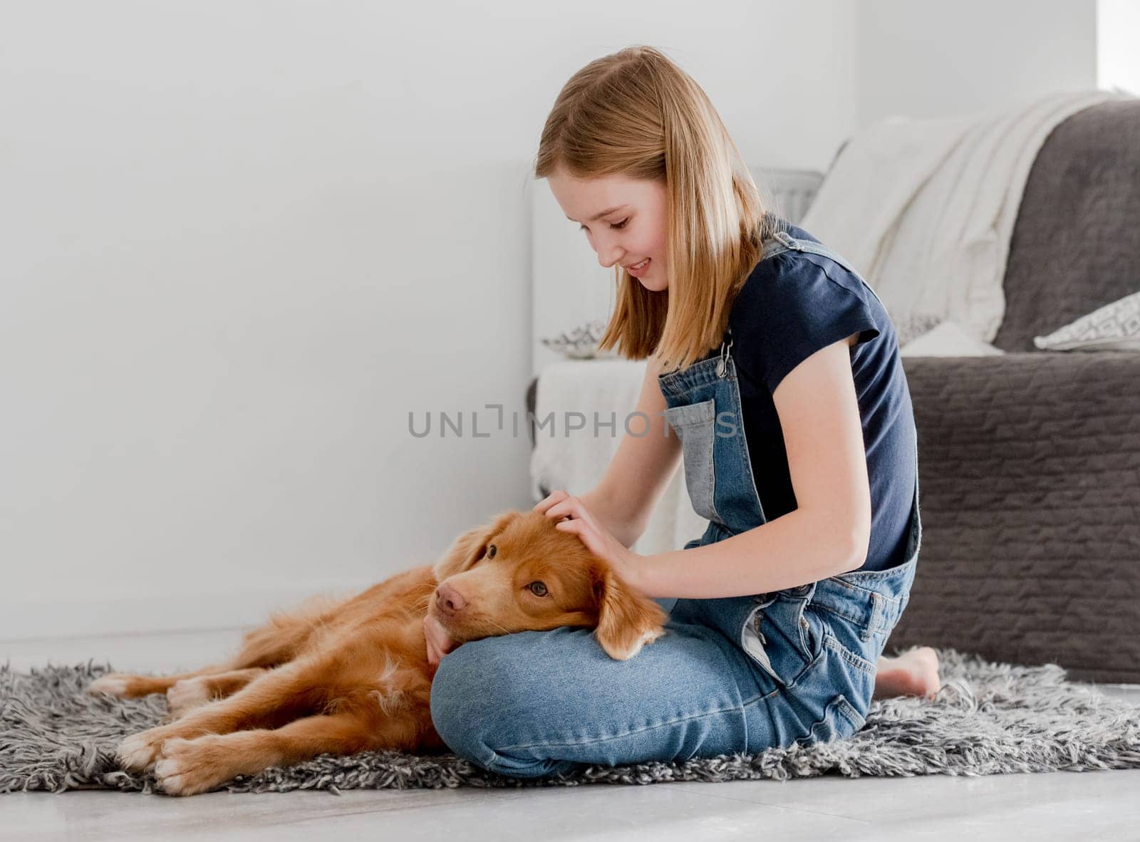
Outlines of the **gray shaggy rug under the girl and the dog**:
[{"label": "gray shaggy rug under the girl and the dog", "polygon": [[[996,775],[1140,768],[1140,706],[1065,680],[1056,664],[1016,667],[942,649],[943,688],[922,701],[872,704],[852,739],[769,749],[683,763],[583,767],[568,775],[520,779],[496,775],[454,754],[367,752],[323,754],[288,768],[241,776],[229,792],[573,786],[662,780],[779,780],[847,777]],[[156,725],[165,698],[90,696],[87,685],[112,671],[93,663],[47,667],[30,675],[0,668],[0,793],[101,788],[161,792],[150,775],[115,765],[119,742]]]}]

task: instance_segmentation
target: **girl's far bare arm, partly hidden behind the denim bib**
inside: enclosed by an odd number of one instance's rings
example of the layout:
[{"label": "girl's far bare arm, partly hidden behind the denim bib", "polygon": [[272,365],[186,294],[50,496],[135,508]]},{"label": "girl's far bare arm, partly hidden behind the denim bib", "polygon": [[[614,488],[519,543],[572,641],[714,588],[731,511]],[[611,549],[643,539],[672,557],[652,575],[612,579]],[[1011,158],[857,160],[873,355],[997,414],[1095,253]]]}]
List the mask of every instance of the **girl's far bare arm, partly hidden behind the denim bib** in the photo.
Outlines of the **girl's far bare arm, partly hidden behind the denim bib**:
[{"label": "girl's far bare arm, partly hidden behind the denim bib", "polygon": [[649,430],[641,435],[645,422],[629,419],[625,434],[605,474],[597,485],[580,496],[586,508],[601,521],[622,546],[629,547],[645,531],[650,514],[669,484],[681,458],[681,441],[668,431],[666,435],[665,397],[658,385],[659,361],[651,357],[645,365],[645,378],[634,411],[649,418]]}]

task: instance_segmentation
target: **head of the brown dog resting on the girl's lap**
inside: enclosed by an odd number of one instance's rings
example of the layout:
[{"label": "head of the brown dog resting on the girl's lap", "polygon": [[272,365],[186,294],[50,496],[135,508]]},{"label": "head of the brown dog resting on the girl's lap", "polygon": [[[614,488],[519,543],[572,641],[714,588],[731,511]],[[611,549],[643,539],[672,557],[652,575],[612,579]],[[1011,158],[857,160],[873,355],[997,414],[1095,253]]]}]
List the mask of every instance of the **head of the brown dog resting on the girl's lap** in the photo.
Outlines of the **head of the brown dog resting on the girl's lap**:
[{"label": "head of the brown dog resting on the girl's lap", "polygon": [[665,612],[538,512],[505,512],[459,536],[435,563],[429,611],[456,641],[560,626],[595,629],[625,660],[663,633]]}]

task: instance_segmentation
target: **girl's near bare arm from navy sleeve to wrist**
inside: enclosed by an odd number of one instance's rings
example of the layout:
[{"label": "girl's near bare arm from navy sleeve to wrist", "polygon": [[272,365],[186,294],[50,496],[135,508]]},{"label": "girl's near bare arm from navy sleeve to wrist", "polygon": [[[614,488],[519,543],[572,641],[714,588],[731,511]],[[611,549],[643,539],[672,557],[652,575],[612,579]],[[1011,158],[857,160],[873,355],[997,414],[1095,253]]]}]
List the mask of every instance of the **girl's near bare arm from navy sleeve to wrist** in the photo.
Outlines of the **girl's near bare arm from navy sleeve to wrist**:
[{"label": "girl's near bare arm from navy sleeve to wrist", "polygon": [[797,508],[716,543],[645,556],[630,585],[650,597],[708,599],[793,588],[862,566],[871,491],[854,343],[850,336],[816,351],[772,394]]}]

